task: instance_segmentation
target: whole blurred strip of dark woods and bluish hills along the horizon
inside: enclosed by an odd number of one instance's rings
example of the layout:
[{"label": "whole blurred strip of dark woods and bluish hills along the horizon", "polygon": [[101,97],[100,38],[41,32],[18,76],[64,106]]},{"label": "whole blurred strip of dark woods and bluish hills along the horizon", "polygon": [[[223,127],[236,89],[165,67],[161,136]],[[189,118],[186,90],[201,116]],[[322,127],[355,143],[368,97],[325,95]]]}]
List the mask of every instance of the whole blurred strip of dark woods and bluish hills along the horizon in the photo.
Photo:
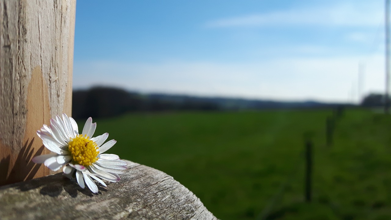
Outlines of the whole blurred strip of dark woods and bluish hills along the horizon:
[{"label": "whole blurred strip of dark woods and bluish hills along the horizon", "polygon": [[[365,101],[365,103],[367,102]],[[77,119],[85,119],[87,117],[113,117],[127,112],[335,108],[349,105],[316,101],[281,102],[224,97],[140,94],[121,88],[93,87],[88,90],[74,90],[72,116]]]}]

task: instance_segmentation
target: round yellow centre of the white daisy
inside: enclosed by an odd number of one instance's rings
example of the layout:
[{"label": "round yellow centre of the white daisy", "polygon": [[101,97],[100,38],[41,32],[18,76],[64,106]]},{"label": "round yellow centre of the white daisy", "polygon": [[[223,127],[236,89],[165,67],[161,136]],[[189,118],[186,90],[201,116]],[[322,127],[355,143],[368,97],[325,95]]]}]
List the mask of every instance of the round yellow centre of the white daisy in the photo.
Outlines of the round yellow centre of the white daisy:
[{"label": "round yellow centre of the white daisy", "polygon": [[68,150],[72,154],[75,164],[90,166],[98,160],[99,148],[95,141],[91,141],[90,137],[86,137],[86,135],[79,134],[75,138],[71,138]]}]

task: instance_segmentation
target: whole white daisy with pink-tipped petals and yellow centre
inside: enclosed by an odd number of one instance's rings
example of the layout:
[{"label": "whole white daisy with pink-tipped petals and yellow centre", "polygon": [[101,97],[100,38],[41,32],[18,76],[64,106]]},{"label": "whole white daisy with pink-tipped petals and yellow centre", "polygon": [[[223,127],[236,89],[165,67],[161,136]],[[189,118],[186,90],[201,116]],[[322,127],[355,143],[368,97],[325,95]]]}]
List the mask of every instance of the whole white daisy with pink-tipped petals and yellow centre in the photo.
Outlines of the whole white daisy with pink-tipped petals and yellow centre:
[{"label": "whole white daisy with pink-tipped petals and yellow centre", "polygon": [[92,137],[95,128],[96,123],[92,123],[92,118],[89,117],[83,132],[79,134],[72,117],[63,114],[61,119],[57,115],[55,119],[50,119],[50,126],[44,124],[41,130],[37,131],[43,145],[53,153],[39,155],[32,161],[43,163],[53,171],[63,168],[65,176],[69,179],[76,177],[81,188],[84,189],[86,184],[93,193],[98,193],[98,187],[93,180],[103,186],[106,184],[102,180],[118,182],[118,174],[122,174],[122,170],[126,169],[126,162],[120,160],[118,155],[104,153],[117,141],[111,140],[103,144],[109,134]]}]

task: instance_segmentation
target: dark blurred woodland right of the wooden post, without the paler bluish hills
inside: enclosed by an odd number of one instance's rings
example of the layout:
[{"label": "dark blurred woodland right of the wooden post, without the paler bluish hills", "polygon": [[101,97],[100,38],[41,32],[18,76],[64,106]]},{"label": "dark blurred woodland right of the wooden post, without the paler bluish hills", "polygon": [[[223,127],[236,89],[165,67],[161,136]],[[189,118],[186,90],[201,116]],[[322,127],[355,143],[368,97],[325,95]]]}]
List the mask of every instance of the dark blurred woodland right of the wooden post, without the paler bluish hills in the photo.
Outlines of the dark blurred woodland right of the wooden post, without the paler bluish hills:
[{"label": "dark blurred woodland right of the wooden post, without the paler bluish hills", "polygon": [[72,95],[72,116],[113,117],[127,112],[168,111],[168,110],[219,110],[216,103],[197,100],[193,97],[167,99],[164,95],[143,95],[121,88],[93,87],[75,90]]}]

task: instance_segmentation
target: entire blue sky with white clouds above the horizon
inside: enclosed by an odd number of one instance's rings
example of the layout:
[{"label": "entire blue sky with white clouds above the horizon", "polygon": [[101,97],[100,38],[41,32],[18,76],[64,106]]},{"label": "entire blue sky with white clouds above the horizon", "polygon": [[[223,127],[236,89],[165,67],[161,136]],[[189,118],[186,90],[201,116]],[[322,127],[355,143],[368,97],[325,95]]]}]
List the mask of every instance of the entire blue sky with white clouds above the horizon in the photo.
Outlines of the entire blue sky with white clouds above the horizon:
[{"label": "entire blue sky with white clouds above the horizon", "polygon": [[73,85],[357,102],[384,91],[384,1],[79,0]]}]

